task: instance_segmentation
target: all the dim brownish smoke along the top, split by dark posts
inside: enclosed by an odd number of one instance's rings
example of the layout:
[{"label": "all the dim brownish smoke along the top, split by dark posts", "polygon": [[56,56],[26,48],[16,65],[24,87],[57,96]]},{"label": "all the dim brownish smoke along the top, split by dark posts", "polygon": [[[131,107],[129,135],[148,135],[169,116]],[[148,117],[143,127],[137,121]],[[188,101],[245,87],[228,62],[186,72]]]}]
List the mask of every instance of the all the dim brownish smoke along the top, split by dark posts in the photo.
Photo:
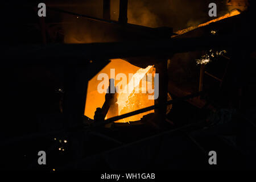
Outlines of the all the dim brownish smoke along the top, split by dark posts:
[{"label": "all the dim brownish smoke along the top, split by dark posts", "polygon": [[[218,16],[229,11],[224,0],[129,0],[128,2],[128,23],[147,27],[172,27],[174,31],[197,26],[214,19],[208,15],[210,2],[217,4]],[[103,0],[82,1],[77,7],[70,7],[68,10],[102,18]],[[110,11],[111,19],[118,20],[119,0],[111,1]],[[65,21],[70,20],[70,16],[67,17],[64,17]],[[71,22],[74,22],[73,18]],[[114,41],[113,34],[118,34],[118,32],[113,32],[113,28],[108,30],[106,25],[101,26],[100,23],[85,19],[77,19],[75,24],[64,27],[66,43],[109,42]]]}]

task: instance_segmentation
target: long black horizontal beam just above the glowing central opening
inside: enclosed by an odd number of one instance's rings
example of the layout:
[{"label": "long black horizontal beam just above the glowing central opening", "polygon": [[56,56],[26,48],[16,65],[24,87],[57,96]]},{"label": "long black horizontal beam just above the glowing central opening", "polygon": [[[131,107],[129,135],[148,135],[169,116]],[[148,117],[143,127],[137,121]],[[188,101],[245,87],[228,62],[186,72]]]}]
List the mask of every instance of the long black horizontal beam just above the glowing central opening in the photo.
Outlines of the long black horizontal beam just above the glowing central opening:
[{"label": "long black horizontal beam just above the glowing central opening", "polygon": [[[244,42],[251,39],[243,38]],[[85,60],[106,60],[139,56],[171,56],[174,53],[205,50],[208,48],[228,48],[236,41],[232,36],[215,38],[152,39],[134,42],[90,43],[90,44],[47,44],[33,46],[6,46],[3,60],[15,63],[34,64],[79,64]],[[241,41],[242,42],[242,41]],[[7,63],[7,61],[5,61]],[[13,63],[13,62],[8,62]]]}]

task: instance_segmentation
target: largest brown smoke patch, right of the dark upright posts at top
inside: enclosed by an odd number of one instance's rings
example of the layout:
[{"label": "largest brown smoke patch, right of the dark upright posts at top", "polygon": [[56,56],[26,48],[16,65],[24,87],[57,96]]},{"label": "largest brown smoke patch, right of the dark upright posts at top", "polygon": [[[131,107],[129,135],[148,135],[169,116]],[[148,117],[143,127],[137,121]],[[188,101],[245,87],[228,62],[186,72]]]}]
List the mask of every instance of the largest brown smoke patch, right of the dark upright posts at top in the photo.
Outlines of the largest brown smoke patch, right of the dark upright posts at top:
[{"label": "largest brown smoke patch, right of the dark upright posts at top", "polygon": [[211,20],[208,15],[208,5],[211,2],[217,4],[218,16],[228,12],[221,0],[129,0],[128,22],[148,27],[173,27],[174,31],[181,30]]}]

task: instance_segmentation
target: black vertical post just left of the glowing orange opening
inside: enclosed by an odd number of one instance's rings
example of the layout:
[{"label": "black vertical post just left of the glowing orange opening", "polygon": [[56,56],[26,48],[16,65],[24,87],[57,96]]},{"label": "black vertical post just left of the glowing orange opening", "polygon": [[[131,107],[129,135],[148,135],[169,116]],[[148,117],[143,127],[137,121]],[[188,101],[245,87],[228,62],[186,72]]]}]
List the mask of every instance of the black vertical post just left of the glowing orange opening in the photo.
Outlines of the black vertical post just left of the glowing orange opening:
[{"label": "black vertical post just left of the glowing orange opening", "polygon": [[79,160],[84,155],[84,134],[82,130],[77,129],[82,128],[87,85],[88,69],[85,65],[65,65],[64,126],[65,130],[71,131],[68,140],[73,160]]}]

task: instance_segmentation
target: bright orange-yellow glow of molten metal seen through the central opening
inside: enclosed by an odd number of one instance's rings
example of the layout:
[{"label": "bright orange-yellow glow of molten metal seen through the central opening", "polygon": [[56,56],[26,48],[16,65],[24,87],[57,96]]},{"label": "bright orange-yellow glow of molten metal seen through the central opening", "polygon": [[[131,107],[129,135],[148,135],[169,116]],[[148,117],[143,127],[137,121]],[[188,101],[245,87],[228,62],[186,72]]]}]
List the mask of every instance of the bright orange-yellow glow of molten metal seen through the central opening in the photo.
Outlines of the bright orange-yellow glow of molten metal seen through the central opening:
[{"label": "bright orange-yellow glow of molten metal seen through the central opening", "polygon": [[[152,73],[154,75],[155,69],[153,66],[148,66],[147,68],[139,68],[125,60],[122,59],[113,59],[111,62],[106,65],[104,69],[102,69],[96,76],[94,76],[88,82],[87,96],[85,102],[85,113],[87,117],[93,119],[94,112],[97,107],[102,107],[105,102],[105,93],[98,93],[97,86],[102,80],[97,80],[97,77],[100,73],[106,73],[110,78],[110,69],[115,69],[115,76],[118,73],[123,73],[126,75],[127,79],[129,78],[129,73],[133,74],[134,84],[131,84],[129,80],[127,80],[126,88],[133,88],[131,92],[125,93],[121,92],[118,94],[118,115],[129,113],[134,110],[142,109],[144,107],[154,105],[154,100],[148,100],[148,93],[136,93],[135,91],[142,91],[144,88],[142,85],[142,77],[146,75],[146,73]],[[132,80],[132,79],[131,79]],[[154,80],[154,79],[153,79]],[[117,85],[120,81],[115,81],[115,85]],[[151,82],[149,84],[152,84]],[[154,86],[152,86],[154,88]],[[138,121],[148,113],[154,113],[154,110],[134,115],[129,118],[122,119],[118,122],[130,122],[130,121]],[[108,115],[108,117],[114,117],[115,115]]]}]

